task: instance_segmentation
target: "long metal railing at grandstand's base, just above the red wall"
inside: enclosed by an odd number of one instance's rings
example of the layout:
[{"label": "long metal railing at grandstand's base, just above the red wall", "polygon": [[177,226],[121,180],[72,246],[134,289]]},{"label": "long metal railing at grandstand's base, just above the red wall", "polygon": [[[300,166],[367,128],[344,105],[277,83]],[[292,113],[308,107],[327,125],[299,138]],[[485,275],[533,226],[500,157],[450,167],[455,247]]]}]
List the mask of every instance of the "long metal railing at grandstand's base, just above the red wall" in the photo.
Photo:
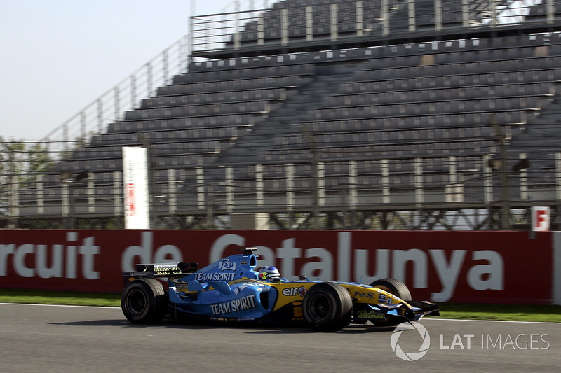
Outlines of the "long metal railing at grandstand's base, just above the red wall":
[{"label": "long metal railing at grandstand's base, just above the red wall", "polygon": [[[20,156],[17,153],[0,152],[0,156],[9,164],[0,172],[0,189],[4,192],[0,198],[0,227],[123,227],[121,171],[63,178],[48,171],[15,169]],[[520,156],[511,155],[508,164],[518,162]],[[217,225],[218,220],[214,220],[219,216],[226,221],[236,213],[257,212],[305,217],[308,227],[316,226],[310,222],[322,216],[320,228],[325,229],[329,226],[327,216],[347,219],[356,213],[366,216],[401,211],[410,218],[419,218],[424,213],[444,216],[457,211],[454,219],[461,221],[451,221],[446,229],[496,229],[505,217],[491,215],[499,216],[498,212],[506,206],[516,229],[525,229],[527,220],[522,216],[529,207],[556,209],[561,200],[561,153],[523,156],[536,164],[552,164],[553,169],[494,170],[490,155],[485,155],[466,159],[450,156],[318,162],[316,171],[308,164],[309,174],[298,176],[296,167],[300,166],[302,171],[306,164],[236,167],[245,176],[235,176],[234,167],[229,164],[218,169],[212,165],[159,170],[154,185],[154,226],[208,227]],[[504,161],[506,164],[507,160]],[[407,171],[400,171],[400,167]],[[338,168],[346,171],[327,175],[327,169]],[[268,176],[270,171],[282,176]],[[314,172],[317,183],[313,180]],[[196,220],[199,223],[194,223]],[[421,227],[424,223],[420,220],[415,221],[400,225],[400,229],[426,229]],[[347,227],[379,229],[366,221],[349,223]]]}]

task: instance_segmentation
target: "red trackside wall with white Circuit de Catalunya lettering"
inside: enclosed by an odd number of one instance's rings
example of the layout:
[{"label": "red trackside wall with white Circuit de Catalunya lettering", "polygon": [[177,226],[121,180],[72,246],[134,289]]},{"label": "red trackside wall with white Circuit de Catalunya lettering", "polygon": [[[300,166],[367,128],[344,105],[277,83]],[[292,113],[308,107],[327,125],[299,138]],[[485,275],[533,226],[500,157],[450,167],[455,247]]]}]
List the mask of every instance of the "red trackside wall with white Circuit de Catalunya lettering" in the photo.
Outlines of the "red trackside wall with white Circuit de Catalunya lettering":
[{"label": "red trackside wall with white Circuit de Catalunya lettering", "polygon": [[119,292],[139,262],[198,262],[257,247],[295,279],[393,277],[414,299],[548,304],[552,234],[304,230],[0,230],[0,287]]}]

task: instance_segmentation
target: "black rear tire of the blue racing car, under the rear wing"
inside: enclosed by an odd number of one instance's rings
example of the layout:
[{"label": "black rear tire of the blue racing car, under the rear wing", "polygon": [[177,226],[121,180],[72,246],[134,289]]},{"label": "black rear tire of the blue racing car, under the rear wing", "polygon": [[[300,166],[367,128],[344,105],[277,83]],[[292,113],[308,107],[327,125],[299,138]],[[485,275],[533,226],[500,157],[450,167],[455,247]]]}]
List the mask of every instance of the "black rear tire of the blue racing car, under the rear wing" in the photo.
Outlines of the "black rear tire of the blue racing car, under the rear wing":
[{"label": "black rear tire of the blue racing car, under the rear wing", "polygon": [[121,309],[131,323],[159,323],[168,310],[168,295],[160,281],[137,279],[123,290]]}]

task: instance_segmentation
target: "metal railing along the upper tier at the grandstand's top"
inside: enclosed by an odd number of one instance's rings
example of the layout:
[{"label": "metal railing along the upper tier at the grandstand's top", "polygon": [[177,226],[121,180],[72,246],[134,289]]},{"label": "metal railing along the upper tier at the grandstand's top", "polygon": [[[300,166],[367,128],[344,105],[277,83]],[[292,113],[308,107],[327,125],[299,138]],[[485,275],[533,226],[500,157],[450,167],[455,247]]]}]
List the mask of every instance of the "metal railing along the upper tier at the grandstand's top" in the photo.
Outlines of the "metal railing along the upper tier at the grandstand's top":
[{"label": "metal railing along the upper tier at the grandstand's top", "polygon": [[414,0],[384,0],[378,8],[370,1],[344,3],[352,3],[351,10],[337,1],[309,6],[289,6],[287,1],[273,9],[236,6],[229,13],[196,15],[190,19],[191,51],[203,57],[205,52],[272,44],[285,48],[312,41],[337,43],[344,38],[388,38],[462,27],[545,26],[558,20],[555,10],[559,8],[559,0],[508,1],[503,6],[496,0],[434,0],[430,8],[421,8],[426,3]]}]

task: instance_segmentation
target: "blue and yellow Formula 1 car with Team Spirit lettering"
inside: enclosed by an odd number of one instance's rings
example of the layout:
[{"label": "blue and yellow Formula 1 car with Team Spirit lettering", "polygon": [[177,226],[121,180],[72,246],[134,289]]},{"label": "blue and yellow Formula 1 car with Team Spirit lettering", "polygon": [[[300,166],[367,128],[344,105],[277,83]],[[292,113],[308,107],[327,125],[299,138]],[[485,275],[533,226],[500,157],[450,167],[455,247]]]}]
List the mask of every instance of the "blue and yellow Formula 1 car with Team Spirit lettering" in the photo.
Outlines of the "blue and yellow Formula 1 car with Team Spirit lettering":
[{"label": "blue and yellow Formula 1 car with Team Spirit lettering", "polygon": [[123,314],[132,323],[191,318],[299,323],[321,331],[351,322],[398,325],[439,314],[438,304],[412,301],[407,286],[396,279],[370,285],[306,276],[288,281],[274,267],[257,272],[255,249],[242,251],[202,269],[189,262],[136,265],[135,272],[123,272]]}]

